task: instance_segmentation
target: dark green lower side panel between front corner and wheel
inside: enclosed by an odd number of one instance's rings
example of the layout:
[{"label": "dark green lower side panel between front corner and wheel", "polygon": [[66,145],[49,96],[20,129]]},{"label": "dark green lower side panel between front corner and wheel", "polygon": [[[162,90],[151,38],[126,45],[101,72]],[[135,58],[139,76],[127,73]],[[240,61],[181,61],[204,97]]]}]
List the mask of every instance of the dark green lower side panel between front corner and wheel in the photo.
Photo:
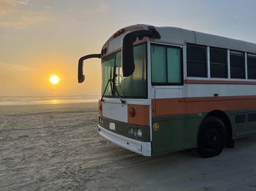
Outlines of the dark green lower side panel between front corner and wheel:
[{"label": "dark green lower side panel between front corner and wheel", "polygon": [[152,154],[160,154],[196,147],[197,131],[207,113],[152,117]]}]

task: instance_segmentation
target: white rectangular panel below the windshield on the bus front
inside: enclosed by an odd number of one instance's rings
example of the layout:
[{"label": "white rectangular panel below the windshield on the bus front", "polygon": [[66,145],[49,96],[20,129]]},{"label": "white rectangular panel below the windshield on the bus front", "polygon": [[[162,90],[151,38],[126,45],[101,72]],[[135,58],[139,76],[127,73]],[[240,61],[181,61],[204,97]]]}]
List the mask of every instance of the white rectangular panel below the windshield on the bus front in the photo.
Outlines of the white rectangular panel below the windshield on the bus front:
[{"label": "white rectangular panel below the windshield on the bus front", "polygon": [[109,119],[128,122],[126,104],[102,102],[102,115]]}]

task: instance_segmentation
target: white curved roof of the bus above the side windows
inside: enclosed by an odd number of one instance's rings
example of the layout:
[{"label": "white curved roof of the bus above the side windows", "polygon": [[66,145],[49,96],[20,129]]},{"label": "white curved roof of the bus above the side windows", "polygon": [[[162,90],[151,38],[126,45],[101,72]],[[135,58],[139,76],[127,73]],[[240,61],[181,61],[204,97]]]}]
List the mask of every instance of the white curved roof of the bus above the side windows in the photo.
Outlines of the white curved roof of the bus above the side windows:
[{"label": "white curved roof of the bus above the side windows", "polygon": [[[138,25],[135,25],[138,26]],[[145,29],[152,25],[141,25]],[[173,44],[198,44],[204,46],[226,48],[243,52],[256,53],[256,44],[223,36],[207,34],[203,32],[191,31],[177,27],[155,27],[160,33],[161,39],[155,41]]]}]

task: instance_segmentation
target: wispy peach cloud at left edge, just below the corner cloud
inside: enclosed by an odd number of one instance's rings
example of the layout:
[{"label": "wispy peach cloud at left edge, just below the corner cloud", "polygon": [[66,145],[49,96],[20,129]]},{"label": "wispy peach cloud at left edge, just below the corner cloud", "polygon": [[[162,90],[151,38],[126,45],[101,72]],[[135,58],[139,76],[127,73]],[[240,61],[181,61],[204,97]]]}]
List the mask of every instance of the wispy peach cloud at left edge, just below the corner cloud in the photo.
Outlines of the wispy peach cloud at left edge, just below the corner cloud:
[{"label": "wispy peach cloud at left edge, just below the corner cloud", "polygon": [[29,25],[33,23],[42,22],[46,20],[45,17],[22,17],[21,20],[15,22],[1,22],[0,27],[13,27],[15,29],[28,29]]}]

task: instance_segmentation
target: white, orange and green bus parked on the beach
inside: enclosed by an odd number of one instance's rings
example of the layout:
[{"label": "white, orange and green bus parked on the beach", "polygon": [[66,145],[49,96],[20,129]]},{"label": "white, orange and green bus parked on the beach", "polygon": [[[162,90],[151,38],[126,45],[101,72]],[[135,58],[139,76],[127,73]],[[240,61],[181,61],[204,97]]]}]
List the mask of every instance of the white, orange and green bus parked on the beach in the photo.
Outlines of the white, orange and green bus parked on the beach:
[{"label": "white, orange and green bus parked on the beach", "polygon": [[133,25],[100,54],[98,134],[143,156],[219,155],[256,133],[256,44],[176,27]]}]

